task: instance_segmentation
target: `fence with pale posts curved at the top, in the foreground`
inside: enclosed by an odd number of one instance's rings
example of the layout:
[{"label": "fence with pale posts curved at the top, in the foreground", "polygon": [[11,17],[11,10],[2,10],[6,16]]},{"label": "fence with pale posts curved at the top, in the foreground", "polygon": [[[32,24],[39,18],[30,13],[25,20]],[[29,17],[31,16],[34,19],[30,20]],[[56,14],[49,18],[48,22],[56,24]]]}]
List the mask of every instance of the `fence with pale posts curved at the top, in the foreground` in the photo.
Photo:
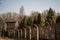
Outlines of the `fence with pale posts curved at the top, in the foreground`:
[{"label": "fence with pale posts curved at the top, in the foreground", "polygon": [[[18,39],[18,40],[43,40],[43,39],[51,40],[52,39],[51,34],[53,34],[51,31],[52,31],[51,27],[40,27],[35,25],[35,27],[28,26],[26,28],[23,27],[23,28],[17,29],[13,31],[13,36],[14,36],[14,39]],[[10,34],[10,36],[12,35]],[[53,36],[55,37],[55,35]]]}]

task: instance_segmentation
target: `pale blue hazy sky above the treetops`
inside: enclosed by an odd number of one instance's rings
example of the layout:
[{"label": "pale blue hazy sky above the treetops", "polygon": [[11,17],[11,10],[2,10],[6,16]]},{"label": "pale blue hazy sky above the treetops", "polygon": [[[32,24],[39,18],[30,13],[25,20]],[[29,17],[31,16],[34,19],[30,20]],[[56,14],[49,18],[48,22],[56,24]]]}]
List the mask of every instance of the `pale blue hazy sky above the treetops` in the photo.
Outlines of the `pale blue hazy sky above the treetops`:
[{"label": "pale blue hazy sky above the treetops", "polygon": [[22,5],[26,15],[30,15],[32,11],[43,12],[49,8],[60,12],[60,0],[1,0],[0,3],[0,13],[19,13]]}]

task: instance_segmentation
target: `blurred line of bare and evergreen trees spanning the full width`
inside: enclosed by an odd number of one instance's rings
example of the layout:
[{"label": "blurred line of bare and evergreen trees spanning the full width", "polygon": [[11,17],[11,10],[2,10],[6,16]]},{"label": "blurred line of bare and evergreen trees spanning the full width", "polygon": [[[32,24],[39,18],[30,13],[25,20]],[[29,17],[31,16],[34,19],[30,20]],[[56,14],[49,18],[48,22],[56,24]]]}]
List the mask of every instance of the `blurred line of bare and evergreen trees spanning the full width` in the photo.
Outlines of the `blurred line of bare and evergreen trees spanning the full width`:
[{"label": "blurred line of bare and evergreen trees spanning the full width", "polygon": [[45,10],[40,13],[38,11],[32,11],[30,16],[24,15],[24,7],[20,8],[20,13],[3,13],[0,14],[0,18],[3,20],[15,19],[18,21],[19,27],[33,27],[35,24],[42,26],[52,25],[55,23],[60,23],[60,13],[56,13],[52,8]]}]

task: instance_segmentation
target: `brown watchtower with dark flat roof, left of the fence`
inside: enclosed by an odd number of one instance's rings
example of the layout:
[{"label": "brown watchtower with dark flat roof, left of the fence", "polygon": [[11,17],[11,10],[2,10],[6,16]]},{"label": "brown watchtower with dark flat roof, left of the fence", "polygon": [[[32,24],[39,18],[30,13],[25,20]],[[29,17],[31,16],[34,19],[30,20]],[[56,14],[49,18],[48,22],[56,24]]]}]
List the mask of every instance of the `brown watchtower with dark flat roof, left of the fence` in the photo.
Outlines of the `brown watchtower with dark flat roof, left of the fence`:
[{"label": "brown watchtower with dark flat roof, left of the fence", "polygon": [[7,25],[7,32],[8,32],[8,36],[9,37],[14,37],[14,32],[15,32],[15,23],[16,23],[16,21],[12,21],[12,20],[10,20],[10,21],[6,21],[5,22],[6,23],[6,25]]}]

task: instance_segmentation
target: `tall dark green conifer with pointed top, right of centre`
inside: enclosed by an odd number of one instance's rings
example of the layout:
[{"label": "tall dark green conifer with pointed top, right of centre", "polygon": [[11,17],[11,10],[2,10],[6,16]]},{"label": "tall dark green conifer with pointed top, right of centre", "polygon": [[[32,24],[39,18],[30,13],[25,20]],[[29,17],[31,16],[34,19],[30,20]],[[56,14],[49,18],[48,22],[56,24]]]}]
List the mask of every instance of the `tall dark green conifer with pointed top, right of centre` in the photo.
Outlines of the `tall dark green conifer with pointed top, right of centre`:
[{"label": "tall dark green conifer with pointed top, right of centre", "polygon": [[47,25],[52,25],[55,23],[55,11],[53,11],[51,8],[49,9],[46,17],[46,24]]}]

